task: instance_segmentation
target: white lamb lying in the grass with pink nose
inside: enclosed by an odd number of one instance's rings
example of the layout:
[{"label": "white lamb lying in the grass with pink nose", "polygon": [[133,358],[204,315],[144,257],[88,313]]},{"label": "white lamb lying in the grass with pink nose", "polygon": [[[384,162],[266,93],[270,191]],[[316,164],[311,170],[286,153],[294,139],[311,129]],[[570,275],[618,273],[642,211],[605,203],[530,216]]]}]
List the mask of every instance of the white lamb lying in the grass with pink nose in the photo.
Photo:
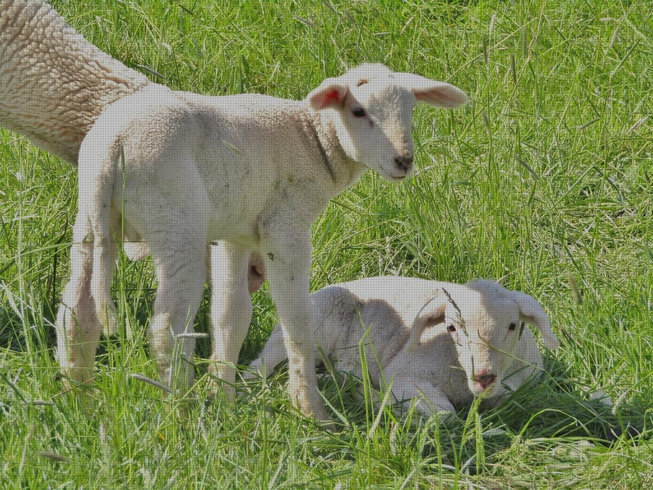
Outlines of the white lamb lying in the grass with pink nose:
[{"label": "white lamb lying in the grass with pink nose", "polygon": [[[375,277],[327,286],[311,300],[316,357],[321,350],[339,370],[360,376],[362,339],[372,383],[390,384],[396,401],[417,398],[427,415],[450,412],[474,395],[496,401],[539,376],[542,357],[524,322],[540,331],[547,348],[558,348],[537,301],[491,280]],[[251,367],[269,375],[285,359],[277,325]]]}]

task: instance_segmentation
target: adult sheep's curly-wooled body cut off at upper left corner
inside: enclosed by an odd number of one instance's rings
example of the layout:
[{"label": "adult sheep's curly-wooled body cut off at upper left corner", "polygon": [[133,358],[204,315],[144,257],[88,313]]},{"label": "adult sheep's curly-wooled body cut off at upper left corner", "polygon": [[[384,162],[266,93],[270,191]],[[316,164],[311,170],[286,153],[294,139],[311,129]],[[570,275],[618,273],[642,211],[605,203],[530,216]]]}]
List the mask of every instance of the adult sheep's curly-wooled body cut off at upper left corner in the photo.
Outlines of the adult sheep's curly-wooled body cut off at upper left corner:
[{"label": "adult sheep's curly-wooled body cut off at upper left corner", "polygon": [[0,0],[0,127],[72,165],[103,107],[152,84],[42,0]]}]

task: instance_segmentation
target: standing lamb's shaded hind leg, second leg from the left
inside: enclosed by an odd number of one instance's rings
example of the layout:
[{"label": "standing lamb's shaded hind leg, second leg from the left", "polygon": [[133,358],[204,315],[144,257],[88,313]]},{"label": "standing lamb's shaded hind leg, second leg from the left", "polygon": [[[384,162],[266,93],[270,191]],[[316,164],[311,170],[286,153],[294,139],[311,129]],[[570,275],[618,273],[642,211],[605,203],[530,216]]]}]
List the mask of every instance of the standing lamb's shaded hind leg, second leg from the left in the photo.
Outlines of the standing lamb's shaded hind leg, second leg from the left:
[{"label": "standing lamb's shaded hind leg, second leg from the left", "polygon": [[162,382],[172,389],[185,389],[193,383],[195,339],[182,334],[193,332],[204,294],[206,228],[198,231],[184,223],[172,223],[168,230],[174,232],[148,239],[159,280],[150,345]]}]

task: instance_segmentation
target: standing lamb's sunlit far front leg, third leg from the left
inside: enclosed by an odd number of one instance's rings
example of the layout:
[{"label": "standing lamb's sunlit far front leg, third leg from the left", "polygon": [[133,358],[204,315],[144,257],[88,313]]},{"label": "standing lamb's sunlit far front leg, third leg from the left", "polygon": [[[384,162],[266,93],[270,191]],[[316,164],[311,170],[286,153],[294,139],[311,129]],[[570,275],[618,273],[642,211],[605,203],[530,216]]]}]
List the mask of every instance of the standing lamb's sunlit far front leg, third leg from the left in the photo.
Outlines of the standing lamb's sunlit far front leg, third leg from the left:
[{"label": "standing lamb's sunlit far front leg, third leg from the left", "polygon": [[210,370],[225,383],[227,397],[233,400],[238,353],[251,321],[251,300],[247,289],[250,251],[217,242],[211,255],[212,355]]}]

